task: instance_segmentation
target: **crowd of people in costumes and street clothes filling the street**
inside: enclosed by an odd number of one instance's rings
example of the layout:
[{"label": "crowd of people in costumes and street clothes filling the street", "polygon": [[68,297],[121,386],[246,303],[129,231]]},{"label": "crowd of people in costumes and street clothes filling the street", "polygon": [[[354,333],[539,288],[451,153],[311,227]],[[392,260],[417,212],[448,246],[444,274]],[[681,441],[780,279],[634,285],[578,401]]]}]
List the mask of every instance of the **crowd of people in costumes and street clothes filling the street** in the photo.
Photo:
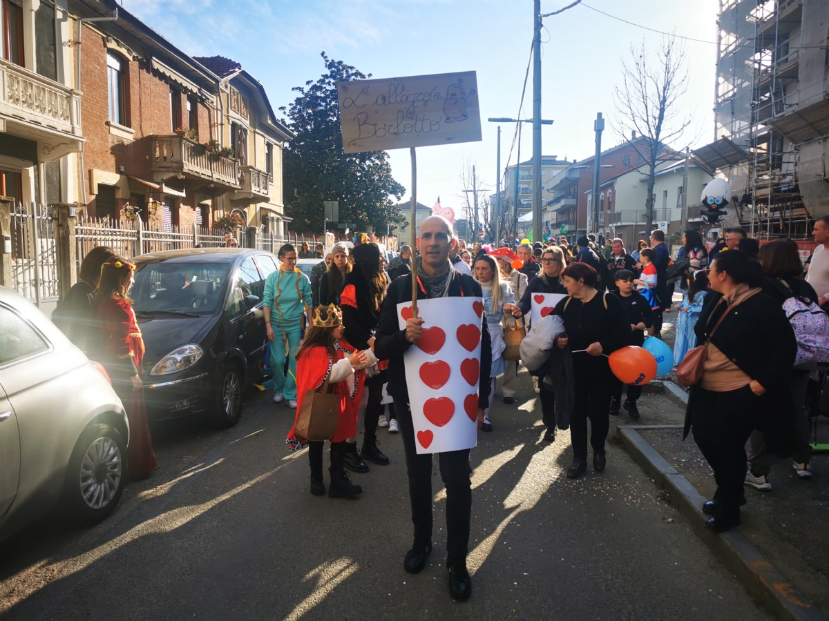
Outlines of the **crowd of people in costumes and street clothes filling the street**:
[{"label": "crowd of people in costumes and street clothes filling the street", "polygon": [[[417,573],[432,546],[433,458],[416,450],[404,355],[423,335],[424,320],[412,316],[401,328],[398,305],[411,301],[414,290],[419,300],[482,298],[477,421],[485,432],[494,428],[491,407],[499,389],[504,404],[515,403],[521,362],[505,358],[506,325],[528,323],[521,357],[539,393],[543,441],[570,430],[570,479],[587,471],[591,451],[594,471],[606,468],[609,416],[624,409],[631,419],[640,418],[642,387],[616,378],[608,356],[660,338],[664,313],[676,312],[674,363],[699,345],[706,348],[699,381],[689,389],[685,436],[692,434],[714,471],[716,493],[703,508],[711,516],[706,526],[728,530],[739,525],[746,486],[771,489],[768,474],[778,456],[791,456],[798,477],[812,475],[807,391],[821,378],[815,367],[798,362],[802,335],[784,308],[794,300],[812,315],[826,316],[820,307],[829,297],[829,218],[817,220],[814,237],[818,246],[808,272],[795,243],[761,246],[744,229],[730,229],[710,249],[699,231],[689,229],[675,259],[659,229],[630,253],[619,238],[605,242],[593,235],[580,236],[574,247],[564,237],[558,243],[467,247],[440,216],[424,219],[417,248],[403,246],[388,263],[381,247],[367,240],[353,247],[335,243],[328,252],[321,246],[313,252],[308,243],[298,252],[285,244],[281,267],[264,283],[264,318],[273,400],[296,410],[288,447],[308,446],[310,491],[326,493],[324,442],[303,437],[301,422],[317,395],[335,395],[327,493],[355,498],[362,488],[349,472],[368,472],[366,462],[388,465],[378,429],[399,432],[414,526],[404,567]],[[310,280],[296,267],[298,258],[308,256],[324,259]],[[95,248],[55,315],[75,344],[102,361],[124,402],[131,480],[148,476],[156,465],[143,408],[143,343],[128,296],[134,269],[109,248]],[[682,300],[674,304],[676,283]],[[533,325],[537,294],[562,297]],[[359,421],[364,434],[358,450]],[[446,487],[449,591],[463,600],[472,589],[466,567],[469,450],[439,453],[439,470]]]}]

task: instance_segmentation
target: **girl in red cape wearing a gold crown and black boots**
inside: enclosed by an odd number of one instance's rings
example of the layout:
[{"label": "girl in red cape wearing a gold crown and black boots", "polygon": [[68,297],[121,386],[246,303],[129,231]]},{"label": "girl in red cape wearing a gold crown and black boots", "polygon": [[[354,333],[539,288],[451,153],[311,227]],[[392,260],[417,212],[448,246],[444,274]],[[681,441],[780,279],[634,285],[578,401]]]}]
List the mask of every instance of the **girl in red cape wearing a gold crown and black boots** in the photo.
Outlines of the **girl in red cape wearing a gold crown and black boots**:
[{"label": "girl in red cape wearing a gold crown and black boots", "polygon": [[[333,304],[317,306],[311,328],[305,333],[303,344],[297,352],[297,416],[288,433],[288,450],[299,450],[308,442],[297,436],[299,412],[303,409],[306,392],[322,387],[326,378],[334,384],[340,396],[337,431],[331,438],[331,486],[328,498],[353,498],[362,493],[359,485],[351,484],[345,471],[347,438],[357,435],[357,409],[360,406],[366,373],[363,369],[377,362],[371,349],[360,351],[351,347],[342,333],[342,311]],[[322,479],[323,442],[308,442],[308,461],[311,464],[311,493],[322,496],[325,483]]]}]

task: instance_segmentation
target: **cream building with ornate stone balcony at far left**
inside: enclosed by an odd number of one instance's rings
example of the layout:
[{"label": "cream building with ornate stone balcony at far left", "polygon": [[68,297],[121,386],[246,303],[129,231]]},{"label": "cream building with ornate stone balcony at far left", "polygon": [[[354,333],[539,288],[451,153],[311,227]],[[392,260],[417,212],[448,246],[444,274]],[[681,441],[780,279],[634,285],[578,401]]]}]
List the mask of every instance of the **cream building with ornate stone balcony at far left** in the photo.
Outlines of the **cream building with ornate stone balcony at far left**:
[{"label": "cream building with ornate stone balcony at far left", "polygon": [[75,20],[62,0],[3,0],[0,27],[0,195],[74,202],[85,142]]}]

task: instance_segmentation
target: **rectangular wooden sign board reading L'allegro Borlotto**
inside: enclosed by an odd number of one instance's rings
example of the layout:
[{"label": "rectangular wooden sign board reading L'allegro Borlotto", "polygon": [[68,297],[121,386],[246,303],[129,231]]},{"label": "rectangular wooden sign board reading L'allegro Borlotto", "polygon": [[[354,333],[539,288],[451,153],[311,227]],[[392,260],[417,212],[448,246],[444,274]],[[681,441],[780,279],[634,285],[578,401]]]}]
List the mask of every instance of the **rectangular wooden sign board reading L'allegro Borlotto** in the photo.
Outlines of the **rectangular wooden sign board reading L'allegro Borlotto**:
[{"label": "rectangular wooden sign board reading L'allegro Borlotto", "polygon": [[481,140],[474,71],[337,83],[347,153]]}]

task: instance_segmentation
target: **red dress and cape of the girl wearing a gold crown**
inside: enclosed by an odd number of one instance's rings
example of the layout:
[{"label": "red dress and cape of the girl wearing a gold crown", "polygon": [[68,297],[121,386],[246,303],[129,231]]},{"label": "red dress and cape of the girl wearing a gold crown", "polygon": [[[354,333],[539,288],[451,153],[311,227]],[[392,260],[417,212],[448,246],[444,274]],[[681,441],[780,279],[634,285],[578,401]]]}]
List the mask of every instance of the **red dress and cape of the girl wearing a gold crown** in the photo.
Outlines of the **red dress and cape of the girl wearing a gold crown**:
[{"label": "red dress and cape of the girl wearing a gold crown", "polygon": [[[332,358],[326,347],[312,347],[303,352],[297,360],[297,415],[293,427],[288,432],[288,450],[299,450],[306,440],[297,436],[297,422],[299,412],[303,410],[303,397],[308,390],[316,390],[325,382],[331,368],[339,360],[346,358],[356,351],[343,339],[337,342],[337,357]],[[363,383],[366,381],[366,372],[363,369],[356,371],[352,376],[353,383],[348,378],[334,384],[334,392],[340,396],[340,416],[337,421],[337,431],[331,438],[332,442],[342,442],[357,435],[357,416],[359,416],[360,398],[362,397]]]}]

